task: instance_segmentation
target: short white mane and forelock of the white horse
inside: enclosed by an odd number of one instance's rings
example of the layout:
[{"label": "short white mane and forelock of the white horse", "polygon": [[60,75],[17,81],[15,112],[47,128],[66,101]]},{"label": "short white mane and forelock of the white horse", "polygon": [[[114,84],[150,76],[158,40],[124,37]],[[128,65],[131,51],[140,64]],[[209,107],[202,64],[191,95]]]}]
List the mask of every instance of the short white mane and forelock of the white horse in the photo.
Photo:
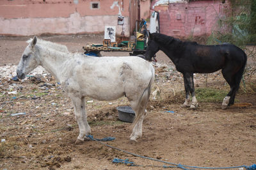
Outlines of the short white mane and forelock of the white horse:
[{"label": "short white mane and forelock of the white horse", "polygon": [[[32,40],[33,40],[33,38],[30,38],[27,41],[27,43],[30,43]],[[67,46],[62,45],[60,43],[53,43],[53,42],[42,40],[40,38],[37,38],[36,43],[39,44],[39,45],[47,46],[48,48],[51,48],[51,49],[54,49],[54,50],[61,51],[61,52],[68,52]]]}]

